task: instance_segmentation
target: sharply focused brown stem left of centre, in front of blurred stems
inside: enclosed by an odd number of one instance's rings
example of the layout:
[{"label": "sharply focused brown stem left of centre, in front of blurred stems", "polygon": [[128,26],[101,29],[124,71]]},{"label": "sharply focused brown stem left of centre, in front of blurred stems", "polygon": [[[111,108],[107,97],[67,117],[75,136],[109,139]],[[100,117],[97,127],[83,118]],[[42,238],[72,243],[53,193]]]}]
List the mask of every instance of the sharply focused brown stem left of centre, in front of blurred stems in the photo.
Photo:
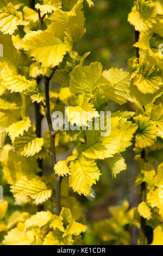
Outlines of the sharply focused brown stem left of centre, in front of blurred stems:
[{"label": "sharply focused brown stem left of centre, in front of blurred stems", "polygon": [[[53,131],[52,126],[52,119],[51,119],[51,112],[50,112],[50,105],[49,105],[49,81],[51,78],[45,77],[45,97],[46,97],[46,108],[45,108],[45,114],[46,119],[48,123],[50,138],[51,138],[51,160],[54,167],[54,164],[57,163],[56,156],[55,156],[55,132]],[[62,177],[58,174],[55,175],[56,178],[56,190],[55,190],[55,208],[54,208],[54,214],[59,215],[60,214],[60,187],[61,187],[61,180]]]}]

